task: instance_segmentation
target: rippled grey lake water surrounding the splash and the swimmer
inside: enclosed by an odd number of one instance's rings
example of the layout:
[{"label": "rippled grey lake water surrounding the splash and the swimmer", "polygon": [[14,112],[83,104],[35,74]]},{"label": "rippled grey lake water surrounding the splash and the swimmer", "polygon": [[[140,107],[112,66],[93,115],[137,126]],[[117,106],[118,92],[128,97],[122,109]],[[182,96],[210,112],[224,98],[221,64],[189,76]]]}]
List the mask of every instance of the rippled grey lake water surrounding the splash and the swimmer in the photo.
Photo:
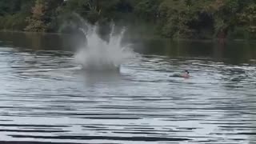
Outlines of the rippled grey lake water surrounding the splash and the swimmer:
[{"label": "rippled grey lake water surrounding the splash and the swimmer", "polygon": [[0,34],[1,143],[256,143],[256,43],[136,40],[88,74],[68,40]]}]

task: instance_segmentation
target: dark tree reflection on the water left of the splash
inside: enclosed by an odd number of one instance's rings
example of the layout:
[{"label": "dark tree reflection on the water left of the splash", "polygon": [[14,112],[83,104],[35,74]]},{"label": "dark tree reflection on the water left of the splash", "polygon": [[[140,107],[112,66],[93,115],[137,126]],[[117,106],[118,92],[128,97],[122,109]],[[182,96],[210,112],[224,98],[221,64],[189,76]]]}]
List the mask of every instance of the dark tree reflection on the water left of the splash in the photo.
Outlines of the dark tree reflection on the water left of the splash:
[{"label": "dark tree reflection on the water left of the splash", "polygon": [[23,32],[1,32],[1,46],[32,50],[76,50],[84,44],[81,34],[44,34]]}]

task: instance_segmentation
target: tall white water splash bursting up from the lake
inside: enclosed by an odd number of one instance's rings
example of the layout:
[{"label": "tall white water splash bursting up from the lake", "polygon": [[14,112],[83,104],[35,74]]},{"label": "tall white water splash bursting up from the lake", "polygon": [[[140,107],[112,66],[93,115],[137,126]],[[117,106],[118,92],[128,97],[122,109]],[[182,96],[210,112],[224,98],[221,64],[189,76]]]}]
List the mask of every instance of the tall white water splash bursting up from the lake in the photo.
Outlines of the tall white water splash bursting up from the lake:
[{"label": "tall white water splash bursting up from the lake", "polygon": [[81,29],[86,35],[86,44],[78,50],[75,60],[86,70],[119,70],[124,62],[137,57],[129,46],[122,46],[125,30],[114,34],[114,26],[109,42],[102,40],[97,34],[98,26],[88,26],[88,30]]}]

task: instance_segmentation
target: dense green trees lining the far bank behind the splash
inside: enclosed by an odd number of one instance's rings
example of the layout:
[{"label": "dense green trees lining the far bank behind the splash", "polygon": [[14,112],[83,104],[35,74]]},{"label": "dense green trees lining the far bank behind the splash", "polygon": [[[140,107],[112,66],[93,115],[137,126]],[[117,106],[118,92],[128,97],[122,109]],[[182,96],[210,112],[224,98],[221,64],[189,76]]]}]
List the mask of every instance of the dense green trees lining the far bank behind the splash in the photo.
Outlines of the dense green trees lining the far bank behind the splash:
[{"label": "dense green trees lining the far bank behind the splash", "polygon": [[1,0],[0,29],[57,32],[71,14],[165,38],[256,38],[256,0]]}]

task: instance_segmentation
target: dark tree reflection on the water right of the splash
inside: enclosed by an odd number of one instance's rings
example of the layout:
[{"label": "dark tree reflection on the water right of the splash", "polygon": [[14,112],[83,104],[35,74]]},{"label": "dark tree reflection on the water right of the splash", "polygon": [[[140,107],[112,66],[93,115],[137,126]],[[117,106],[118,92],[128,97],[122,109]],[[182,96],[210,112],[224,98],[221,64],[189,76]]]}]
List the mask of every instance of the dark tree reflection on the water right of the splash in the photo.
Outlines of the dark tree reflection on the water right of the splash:
[{"label": "dark tree reflection on the water right of the splash", "polygon": [[[141,46],[141,45],[138,45]],[[145,40],[142,53],[166,55],[170,58],[212,58],[216,62],[240,64],[256,58],[256,42]]]}]

